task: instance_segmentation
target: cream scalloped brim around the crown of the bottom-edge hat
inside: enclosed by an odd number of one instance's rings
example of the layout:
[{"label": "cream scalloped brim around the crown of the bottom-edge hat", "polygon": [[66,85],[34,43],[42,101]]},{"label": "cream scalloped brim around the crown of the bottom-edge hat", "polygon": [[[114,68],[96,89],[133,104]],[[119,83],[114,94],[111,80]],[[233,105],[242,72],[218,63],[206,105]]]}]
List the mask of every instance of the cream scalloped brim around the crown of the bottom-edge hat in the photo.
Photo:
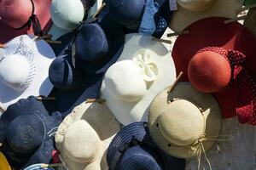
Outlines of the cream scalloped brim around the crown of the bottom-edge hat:
[{"label": "cream scalloped brim around the crown of the bottom-edge hat", "polygon": [[[102,150],[97,150],[97,157],[95,161],[90,163],[81,163],[73,161],[63,148],[62,142],[65,139],[65,133],[68,127],[71,127],[74,122],[85,120],[96,130],[101,141]],[[55,133],[55,144],[61,152],[61,160],[69,169],[83,169],[83,170],[101,170],[107,166],[106,150],[110,144],[113,136],[119,131],[119,123],[115,121],[114,116],[108,110],[106,105],[93,103],[86,104],[85,102],[73,109],[73,111],[64,119]],[[85,151],[85,150],[84,150]],[[103,168],[104,167],[104,168]]]}]

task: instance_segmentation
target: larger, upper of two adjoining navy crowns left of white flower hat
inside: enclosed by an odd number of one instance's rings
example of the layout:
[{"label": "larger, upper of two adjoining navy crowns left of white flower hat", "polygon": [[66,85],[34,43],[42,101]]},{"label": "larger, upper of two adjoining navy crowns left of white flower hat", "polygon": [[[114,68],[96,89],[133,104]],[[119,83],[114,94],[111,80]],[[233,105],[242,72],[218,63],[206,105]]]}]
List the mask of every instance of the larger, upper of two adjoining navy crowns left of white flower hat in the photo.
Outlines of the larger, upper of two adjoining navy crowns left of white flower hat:
[{"label": "larger, upper of two adjoining navy crowns left of white flower hat", "polygon": [[75,40],[76,54],[80,59],[97,62],[108,54],[110,42],[98,24],[85,24]]}]

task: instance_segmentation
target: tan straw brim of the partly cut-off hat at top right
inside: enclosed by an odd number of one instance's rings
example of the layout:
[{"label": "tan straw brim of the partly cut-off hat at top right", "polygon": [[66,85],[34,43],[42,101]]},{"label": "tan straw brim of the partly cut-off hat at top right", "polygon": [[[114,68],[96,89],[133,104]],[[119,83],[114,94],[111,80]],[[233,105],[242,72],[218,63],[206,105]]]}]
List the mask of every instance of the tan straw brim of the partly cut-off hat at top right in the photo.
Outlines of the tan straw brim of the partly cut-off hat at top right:
[{"label": "tan straw brim of the partly cut-off hat at top right", "polygon": [[242,2],[240,0],[217,0],[206,11],[195,13],[178,5],[177,11],[172,14],[172,20],[169,26],[173,31],[183,31],[184,28],[193,22],[212,16],[236,18],[237,14],[234,10],[241,8],[241,6]]}]

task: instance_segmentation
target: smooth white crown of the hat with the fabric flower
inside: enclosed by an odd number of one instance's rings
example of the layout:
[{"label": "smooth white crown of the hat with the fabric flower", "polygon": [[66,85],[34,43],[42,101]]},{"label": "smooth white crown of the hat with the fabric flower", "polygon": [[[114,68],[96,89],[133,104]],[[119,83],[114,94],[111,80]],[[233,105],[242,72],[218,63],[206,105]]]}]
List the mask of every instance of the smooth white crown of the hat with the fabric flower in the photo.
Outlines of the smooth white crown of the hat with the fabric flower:
[{"label": "smooth white crown of the hat with the fabric flower", "polygon": [[140,67],[131,59],[113,64],[104,79],[108,93],[125,102],[141,99],[147,87],[140,71]]}]

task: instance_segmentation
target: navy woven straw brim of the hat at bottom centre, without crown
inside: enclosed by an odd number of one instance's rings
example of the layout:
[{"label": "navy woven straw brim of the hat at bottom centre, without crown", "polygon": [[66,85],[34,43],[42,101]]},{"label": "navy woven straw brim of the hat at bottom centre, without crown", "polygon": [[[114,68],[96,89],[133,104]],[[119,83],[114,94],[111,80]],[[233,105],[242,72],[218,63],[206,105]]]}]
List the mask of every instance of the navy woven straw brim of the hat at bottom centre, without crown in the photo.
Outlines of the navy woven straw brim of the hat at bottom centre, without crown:
[{"label": "navy woven straw brim of the hat at bottom centre, without crown", "polygon": [[157,156],[160,156],[160,165],[163,166],[163,169],[184,168],[185,160],[168,156],[154,144],[148,132],[146,122],[131,123],[130,125],[124,127],[121,131],[119,131],[119,133],[117,133],[117,135],[113,138],[111,144],[108,147],[108,165],[110,165],[111,161],[113,161],[116,151],[122,148],[125,144],[129,144],[131,142],[131,139],[133,138],[143,142],[142,144],[140,144],[140,147],[142,147],[143,150],[147,150],[148,148],[148,150],[154,151],[157,153]]}]

